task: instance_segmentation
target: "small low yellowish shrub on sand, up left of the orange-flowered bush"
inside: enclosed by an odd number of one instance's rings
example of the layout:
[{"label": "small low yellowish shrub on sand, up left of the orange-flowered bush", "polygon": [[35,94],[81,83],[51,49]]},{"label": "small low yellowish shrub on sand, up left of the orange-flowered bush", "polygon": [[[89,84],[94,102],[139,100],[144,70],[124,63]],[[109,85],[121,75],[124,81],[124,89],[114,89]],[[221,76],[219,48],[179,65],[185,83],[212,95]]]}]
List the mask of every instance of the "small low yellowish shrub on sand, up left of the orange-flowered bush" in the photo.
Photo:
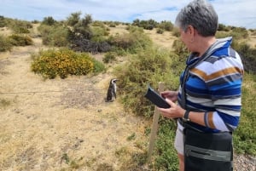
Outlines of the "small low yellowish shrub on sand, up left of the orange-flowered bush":
[{"label": "small low yellowish shrub on sand, up left of the orange-flowered bush", "polygon": [[13,34],[9,36],[10,43],[14,46],[28,46],[32,45],[32,38],[26,35]]}]

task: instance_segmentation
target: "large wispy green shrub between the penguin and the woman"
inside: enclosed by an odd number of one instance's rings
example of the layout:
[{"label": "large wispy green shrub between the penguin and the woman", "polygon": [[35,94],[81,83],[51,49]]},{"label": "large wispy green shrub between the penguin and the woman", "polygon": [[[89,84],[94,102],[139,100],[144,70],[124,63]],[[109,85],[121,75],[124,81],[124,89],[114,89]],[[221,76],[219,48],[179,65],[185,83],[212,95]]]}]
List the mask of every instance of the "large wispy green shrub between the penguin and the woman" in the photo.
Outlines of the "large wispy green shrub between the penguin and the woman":
[{"label": "large wispy green shrub between the penguin and the woman", "polygon": [[172,55],[164,49],[147,48],[131,58],[130,63],[116,68],[119,79],[119,91],[125,109],[131,110],[139,116],[150,117],[154,105],[143,96],[147,85],[157,88],[159,82],[165,82],[166,88],[176,89],[178,77],[171,71]]}]

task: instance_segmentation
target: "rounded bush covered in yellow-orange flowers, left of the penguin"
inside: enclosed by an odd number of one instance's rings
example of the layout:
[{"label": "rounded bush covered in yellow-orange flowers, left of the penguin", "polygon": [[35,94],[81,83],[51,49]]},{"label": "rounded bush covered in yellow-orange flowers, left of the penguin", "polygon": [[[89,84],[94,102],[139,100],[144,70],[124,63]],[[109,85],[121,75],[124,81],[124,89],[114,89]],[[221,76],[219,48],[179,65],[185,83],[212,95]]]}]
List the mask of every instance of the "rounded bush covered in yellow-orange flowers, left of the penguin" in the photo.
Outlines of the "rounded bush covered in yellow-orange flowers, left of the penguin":
[{"label": "rounded bush covered in yellow-orange flowers, left of the penguin", "polygon": [[33,56],[33,58],[32,71],[42,74],[46,78],[55,78],[56,76],[65,78],[69,74],[87,75],[94,71],[94,62],[96,61],[89,54],[75,53],[66,48],[41,51],[38,56]]}]

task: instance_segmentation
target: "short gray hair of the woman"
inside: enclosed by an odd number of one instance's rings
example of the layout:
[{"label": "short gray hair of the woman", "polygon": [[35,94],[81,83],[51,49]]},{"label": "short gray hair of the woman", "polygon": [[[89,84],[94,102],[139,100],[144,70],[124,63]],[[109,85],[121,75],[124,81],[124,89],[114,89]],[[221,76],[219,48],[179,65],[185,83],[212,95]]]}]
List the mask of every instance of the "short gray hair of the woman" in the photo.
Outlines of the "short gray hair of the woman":
[{"label": "short gray hair of the woman", "polygon": [[218,30],[218,14],[205,0],[194,0],[177,14],[175,25],[183,31],[187,31],[191,25],[203,37],[215,36]]}]

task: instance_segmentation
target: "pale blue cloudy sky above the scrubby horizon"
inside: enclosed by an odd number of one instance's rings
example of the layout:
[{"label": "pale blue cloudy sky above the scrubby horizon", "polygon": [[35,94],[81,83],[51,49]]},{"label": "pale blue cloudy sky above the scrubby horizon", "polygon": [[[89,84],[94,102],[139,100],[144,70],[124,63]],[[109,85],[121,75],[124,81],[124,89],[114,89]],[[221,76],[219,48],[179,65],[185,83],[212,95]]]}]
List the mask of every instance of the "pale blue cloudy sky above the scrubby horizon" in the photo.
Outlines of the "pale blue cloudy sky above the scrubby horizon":
[{"label": "pale blue cloudy sky above the scrubby horizon", "polygon": [[[131,22],[175,18],[190,0],[0,0],[0,15],[17,20],[67,20],[70,14],[90,14],[93,20]],[[256,0],[209,0],[225,26],[256,29]]]}]

